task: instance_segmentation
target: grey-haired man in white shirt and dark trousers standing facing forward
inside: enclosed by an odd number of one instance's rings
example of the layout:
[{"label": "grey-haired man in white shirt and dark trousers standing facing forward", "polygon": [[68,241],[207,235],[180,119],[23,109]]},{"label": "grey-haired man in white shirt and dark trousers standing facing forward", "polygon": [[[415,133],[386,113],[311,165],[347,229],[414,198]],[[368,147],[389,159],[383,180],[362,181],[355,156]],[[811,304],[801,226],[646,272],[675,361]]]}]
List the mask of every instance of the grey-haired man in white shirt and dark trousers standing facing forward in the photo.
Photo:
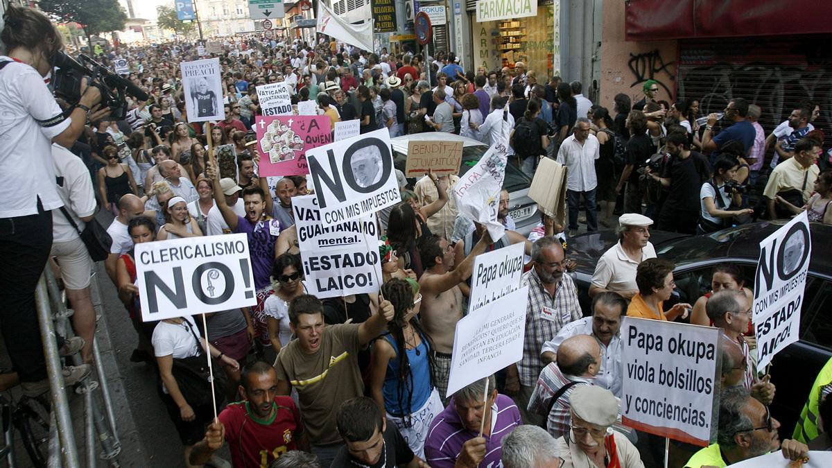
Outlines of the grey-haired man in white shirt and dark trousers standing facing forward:
[{"label": "grey-haired man in white shirt and dark trousers standing facing forward", "polygon": [[598,230],[598,215],[595,210],[595,189],[598,179],[595,174],[595,160],[600,156],[601,145],[595,135],[589,133],[589,120],[578,117],[572,135],[563,140],[557,151],[557,162],[566,166],[567,205],[569,206],[569,236],[577,235],[577,212],[583,195],[587,205],[587,232]]}]

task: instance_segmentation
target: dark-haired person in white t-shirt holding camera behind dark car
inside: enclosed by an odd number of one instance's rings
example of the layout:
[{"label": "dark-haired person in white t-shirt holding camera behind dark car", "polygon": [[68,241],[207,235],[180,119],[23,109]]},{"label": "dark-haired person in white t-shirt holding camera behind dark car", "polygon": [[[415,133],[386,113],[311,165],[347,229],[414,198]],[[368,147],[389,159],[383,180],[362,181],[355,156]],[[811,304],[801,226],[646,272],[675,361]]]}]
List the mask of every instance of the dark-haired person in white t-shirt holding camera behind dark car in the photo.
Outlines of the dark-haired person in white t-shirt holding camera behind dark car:
[{"label": "dark-haired person in white t-shirt holding camera behind dark car", "polygon": [[711,180],[702,184],[699,192],[700,213],[696,223],[696,233],[706,234],[730,227],[734,217],[753,215],[751,208],[730,209],[742,204],[742,189],[734,180],[740,162],[733,156],[723,155],[714,162]]}]

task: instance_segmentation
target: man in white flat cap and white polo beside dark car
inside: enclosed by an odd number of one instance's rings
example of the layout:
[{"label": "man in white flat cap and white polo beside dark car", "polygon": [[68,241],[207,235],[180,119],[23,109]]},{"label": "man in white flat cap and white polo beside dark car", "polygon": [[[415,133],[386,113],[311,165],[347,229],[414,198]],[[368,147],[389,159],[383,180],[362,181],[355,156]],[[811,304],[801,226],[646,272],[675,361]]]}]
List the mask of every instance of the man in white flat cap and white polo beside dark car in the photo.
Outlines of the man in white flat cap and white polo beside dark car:
[{"label": "man in white flat cap and white polo beside dark car", "polygon": [[630,300],[638,292],[636,268],[641,261],[656,258],[650,243],[653,220],[637,213],[626,213],[618,218],[618,243],[598,259],[589,296],[614,291]]}]

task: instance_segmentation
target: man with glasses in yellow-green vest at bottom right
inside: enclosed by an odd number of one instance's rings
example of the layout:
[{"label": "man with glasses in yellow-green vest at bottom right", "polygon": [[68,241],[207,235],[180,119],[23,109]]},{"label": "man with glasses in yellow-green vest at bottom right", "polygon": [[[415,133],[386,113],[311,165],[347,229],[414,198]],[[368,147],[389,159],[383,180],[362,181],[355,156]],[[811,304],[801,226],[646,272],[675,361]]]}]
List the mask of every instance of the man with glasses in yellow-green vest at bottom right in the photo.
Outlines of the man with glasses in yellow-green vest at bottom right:
[{"label": "man with glasses in yellow-green vest at bottom right", "polygon": [[799,441],[787,439],[780,444],[779,427],[768,406],[742,386],[728,387],[720,395],[717,443],[697,451],[685,468],[724,468],[778,449],[789,460],[808,456],[809,447]]}]

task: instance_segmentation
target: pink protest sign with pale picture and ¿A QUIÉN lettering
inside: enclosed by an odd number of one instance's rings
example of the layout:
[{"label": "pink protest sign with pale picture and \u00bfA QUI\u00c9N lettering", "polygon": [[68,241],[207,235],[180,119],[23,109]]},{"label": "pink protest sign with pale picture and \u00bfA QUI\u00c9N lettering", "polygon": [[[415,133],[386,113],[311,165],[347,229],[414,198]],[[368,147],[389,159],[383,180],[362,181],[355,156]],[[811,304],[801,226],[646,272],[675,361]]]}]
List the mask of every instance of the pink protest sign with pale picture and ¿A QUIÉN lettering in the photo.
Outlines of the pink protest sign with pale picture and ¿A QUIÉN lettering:
[{"label": "pink protest sign with pale picture and \u00bfA QUI\u00c9N lettering", "polygon": [[329,117],[255,117],[261,176],[309,174],[306,152],[332,142]]}]

